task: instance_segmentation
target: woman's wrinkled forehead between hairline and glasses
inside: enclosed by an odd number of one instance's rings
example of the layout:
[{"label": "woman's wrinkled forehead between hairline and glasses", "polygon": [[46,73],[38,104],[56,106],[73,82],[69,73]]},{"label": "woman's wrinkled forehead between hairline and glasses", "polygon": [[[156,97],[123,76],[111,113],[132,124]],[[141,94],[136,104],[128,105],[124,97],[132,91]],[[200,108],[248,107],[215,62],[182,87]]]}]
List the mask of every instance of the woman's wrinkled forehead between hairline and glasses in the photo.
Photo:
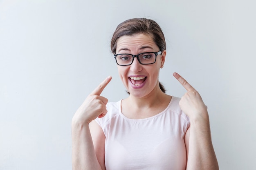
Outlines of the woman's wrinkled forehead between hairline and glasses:
[{"label": "woman's wrinkled forehead between hairline and glasses", "polygon": [[117,40],[117,53],[119,51],[138,51],[140,49],[156,49],[152,35],[150,34],[135,34],[124,35]]}]

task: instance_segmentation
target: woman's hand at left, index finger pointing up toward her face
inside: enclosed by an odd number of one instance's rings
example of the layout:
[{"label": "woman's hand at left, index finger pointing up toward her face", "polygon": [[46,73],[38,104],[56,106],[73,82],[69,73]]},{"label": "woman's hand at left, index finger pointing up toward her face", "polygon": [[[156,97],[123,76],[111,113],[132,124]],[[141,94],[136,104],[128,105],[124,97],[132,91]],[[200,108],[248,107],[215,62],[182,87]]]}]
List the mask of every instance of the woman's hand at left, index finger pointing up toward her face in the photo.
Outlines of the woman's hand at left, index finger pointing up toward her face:
[{"label": "woman's hand at left, index finger pointing up toward her face", "polygon": [[108,103],[108,99],[100,95],[111,79],[111,76],[107,77],[90,95],[88,95],[83,104],[76,110],[72,119],[73,122],[89,124],[97,117],[101,118],[106,115],[106,104]]}]

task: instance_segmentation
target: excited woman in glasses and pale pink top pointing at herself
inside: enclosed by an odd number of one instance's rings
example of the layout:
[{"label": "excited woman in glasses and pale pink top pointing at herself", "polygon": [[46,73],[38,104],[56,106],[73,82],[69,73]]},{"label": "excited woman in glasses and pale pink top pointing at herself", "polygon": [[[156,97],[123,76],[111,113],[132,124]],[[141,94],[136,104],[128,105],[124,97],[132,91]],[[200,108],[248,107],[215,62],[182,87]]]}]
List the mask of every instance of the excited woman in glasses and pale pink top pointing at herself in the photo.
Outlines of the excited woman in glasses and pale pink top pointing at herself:
[{"label": "excited woman in glasses and pale pink top pointing at herself", "polygon": [[159,83],[166,43],[159,25],[145,18],[117,26],[111,41],[119,76],[129,96],[110,102],[100,96],[107,77],[72,119],[73,170],[218,170],[209,116],[199,93],[180,99]]}]

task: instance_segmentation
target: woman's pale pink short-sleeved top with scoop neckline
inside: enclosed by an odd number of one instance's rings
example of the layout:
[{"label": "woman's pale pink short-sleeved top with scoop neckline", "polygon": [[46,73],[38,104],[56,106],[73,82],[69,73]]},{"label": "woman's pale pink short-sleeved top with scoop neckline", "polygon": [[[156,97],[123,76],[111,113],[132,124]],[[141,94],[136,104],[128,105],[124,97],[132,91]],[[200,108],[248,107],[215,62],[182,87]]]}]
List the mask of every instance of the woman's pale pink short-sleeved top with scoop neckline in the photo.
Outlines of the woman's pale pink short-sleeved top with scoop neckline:
[{"label": "woman's pale pink short-sleeved top with scoop neckline", "polygon": [[108,113],[97,118],[103,129],[107,170],[185,170],[184,135],[189,117],[172,97],[167,108],[146,119],[129,119],[121,113],[121,100],[108,103]]}]

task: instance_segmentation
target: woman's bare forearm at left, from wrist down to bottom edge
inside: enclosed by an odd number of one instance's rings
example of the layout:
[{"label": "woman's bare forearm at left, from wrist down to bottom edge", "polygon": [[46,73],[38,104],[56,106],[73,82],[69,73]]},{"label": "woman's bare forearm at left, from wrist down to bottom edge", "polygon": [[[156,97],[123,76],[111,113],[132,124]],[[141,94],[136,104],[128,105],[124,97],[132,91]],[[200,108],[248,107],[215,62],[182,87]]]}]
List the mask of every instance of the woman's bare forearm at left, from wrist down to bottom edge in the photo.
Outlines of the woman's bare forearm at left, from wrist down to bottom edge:
[{"label": "woman's bare forearm at left, from wrist down to bottom edge", "polygon": [[72,121],[72,169],[101,170],[97,160],[89,124]]}]

